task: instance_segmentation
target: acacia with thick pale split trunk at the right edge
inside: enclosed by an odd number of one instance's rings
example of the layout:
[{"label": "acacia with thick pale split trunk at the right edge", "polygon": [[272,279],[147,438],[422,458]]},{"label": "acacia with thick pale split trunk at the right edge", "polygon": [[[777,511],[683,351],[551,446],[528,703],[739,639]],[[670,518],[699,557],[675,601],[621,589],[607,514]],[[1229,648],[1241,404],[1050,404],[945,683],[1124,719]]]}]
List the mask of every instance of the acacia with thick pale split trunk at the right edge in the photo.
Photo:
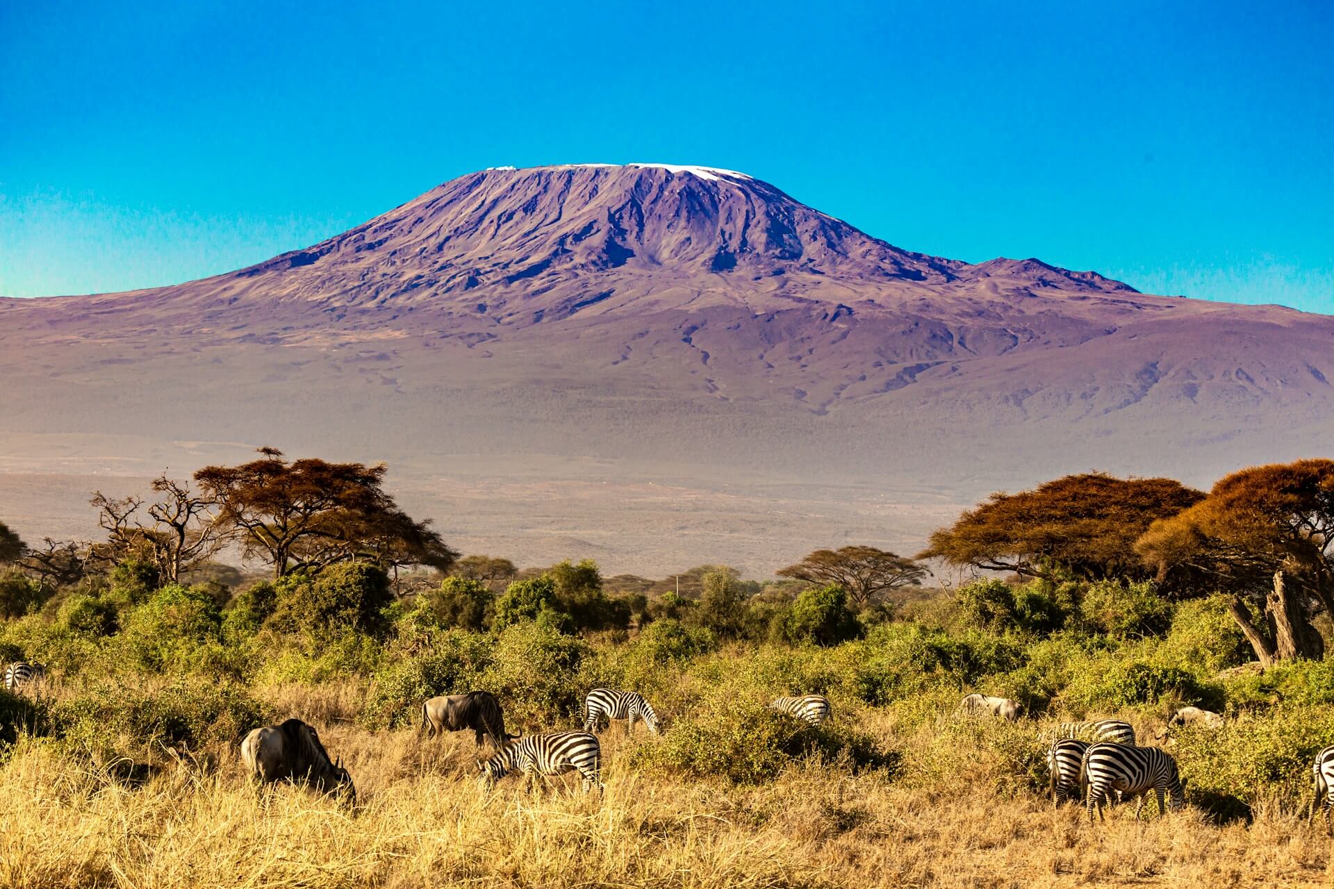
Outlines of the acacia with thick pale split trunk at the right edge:
[{"label": "acacia with thick pale split trunk at the right edge", "polygon": [[1334,460],[1234,472],[1154,522],[1135,552],[1169,592],[1231,593],[1229,610],[1262,665],[1318,658],[1325,642],[1311,614],[1334,613]]}]

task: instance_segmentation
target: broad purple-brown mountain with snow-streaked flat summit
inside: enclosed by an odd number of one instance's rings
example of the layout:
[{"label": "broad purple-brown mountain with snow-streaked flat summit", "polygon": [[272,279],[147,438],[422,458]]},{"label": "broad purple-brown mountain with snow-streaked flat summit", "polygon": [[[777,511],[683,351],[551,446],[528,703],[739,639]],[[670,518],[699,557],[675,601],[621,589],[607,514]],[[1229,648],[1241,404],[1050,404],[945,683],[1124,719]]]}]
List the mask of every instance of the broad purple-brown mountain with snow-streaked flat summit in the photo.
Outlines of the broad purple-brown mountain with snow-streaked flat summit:
[{"label": "broad purple-brown mountain with snow-streaked flat summit", "polygon": [[471,546],[626,570],[906,549],[996,488],[1207,484],[1334,432],[1331,317],[927,256],[656,164],[488,169],[237,272],[0,300],[0,372],[29,536],[32,490],[273,444],[390,461]]}]

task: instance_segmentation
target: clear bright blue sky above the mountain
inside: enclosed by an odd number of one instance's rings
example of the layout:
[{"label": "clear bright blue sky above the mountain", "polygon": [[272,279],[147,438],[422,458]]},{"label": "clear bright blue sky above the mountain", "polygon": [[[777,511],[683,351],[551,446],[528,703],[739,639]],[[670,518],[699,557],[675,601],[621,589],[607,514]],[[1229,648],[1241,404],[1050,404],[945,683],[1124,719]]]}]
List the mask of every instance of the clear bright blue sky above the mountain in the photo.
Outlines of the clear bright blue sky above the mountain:
[{"label": "clear bright blue sky above the mountain", "polygon": [[1334,4],[0,0],[0,295],[173,284],[512,164],[1334,312]]}]

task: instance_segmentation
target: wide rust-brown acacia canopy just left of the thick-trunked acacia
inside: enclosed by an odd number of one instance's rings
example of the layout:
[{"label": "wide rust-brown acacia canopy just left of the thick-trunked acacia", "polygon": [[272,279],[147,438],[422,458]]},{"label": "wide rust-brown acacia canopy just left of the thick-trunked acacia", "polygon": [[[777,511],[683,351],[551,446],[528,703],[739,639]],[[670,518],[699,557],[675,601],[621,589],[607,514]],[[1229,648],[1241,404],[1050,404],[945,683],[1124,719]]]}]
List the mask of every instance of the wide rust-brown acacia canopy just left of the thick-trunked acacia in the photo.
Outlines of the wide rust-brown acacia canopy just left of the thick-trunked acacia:
[{"label": "wide rust-brown acacia canopy just left of the thick-trunked acacia", "polygon": [[1135,541],[1154,521],[1203,497],[1173,478],[1065,476],[1033,490],[991,494],[934,532],[916,558],[1049,580],[1054,569],[1086,580],[1145,580],[1153,570],[1135,556]]}]

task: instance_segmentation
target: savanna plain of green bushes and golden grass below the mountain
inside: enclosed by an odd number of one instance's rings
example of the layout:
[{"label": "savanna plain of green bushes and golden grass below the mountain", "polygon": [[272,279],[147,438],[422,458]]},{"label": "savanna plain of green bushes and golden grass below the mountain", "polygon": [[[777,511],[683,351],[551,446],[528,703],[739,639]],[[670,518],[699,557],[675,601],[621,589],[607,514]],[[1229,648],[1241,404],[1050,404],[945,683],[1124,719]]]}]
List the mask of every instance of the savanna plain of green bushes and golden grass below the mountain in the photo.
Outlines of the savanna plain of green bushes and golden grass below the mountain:
[{"label": "savanna plain of green bushes and golden grass below the mountain", "polygon": [[[968,520],[934,538],[938,556]],[[590,561],[396,573],[402,552],[383,546],[321,565],[297,548],[293,565],[309,564],[259,580],[164,564],[163,538],[129,528],[113,524],[77,570],[48,545],[0,574],[0,660],[47,665],[0,692],[0,885],[1334,881],[1323,820],[1309,820],[1334,661],[1270,650],[1262,668],[1235,613],[1250,600],[1221,581],[1167,594],[1143,572],[1074,570],[1054,548],[1035,574],[864,598],[716,565],[686,572],[678,594]],[[1327,638],[1314,602],[1310,630]],[[602,793],[578,776],[488,790],[490,746],[420,730],[424,700],[468,689],[494,692],[511,732],[578,728],[594,688],[638,690],[662,720],[599,729]],[[959,713],[974,690],[1023,716]],[[784,694],[823,694],[832,716],[810,726],[767,706]],[[1225,718],[1165,734],[1182,705]],[[355,801],[252,782],[240,738],[287,717],[317,729]],[[1171,752],[1183,809],[1158,817],[1150,798],[1138,818],[1117,805],[1090,824],[1053,804],[1058,725],[1102,717]]]}]

